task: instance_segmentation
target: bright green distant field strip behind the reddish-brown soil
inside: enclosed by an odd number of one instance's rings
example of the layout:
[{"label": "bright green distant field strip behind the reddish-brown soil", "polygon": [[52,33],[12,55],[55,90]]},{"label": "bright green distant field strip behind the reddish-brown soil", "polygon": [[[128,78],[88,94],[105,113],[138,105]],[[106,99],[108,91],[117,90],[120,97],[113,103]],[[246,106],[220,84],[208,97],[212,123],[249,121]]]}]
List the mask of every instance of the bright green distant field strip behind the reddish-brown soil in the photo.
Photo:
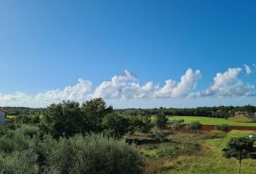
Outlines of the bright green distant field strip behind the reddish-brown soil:
[{"label": "bright green distant field strip behind the reddish-brown soil", "polygon": [[191,123],[193,121],[199,121],[203,125],[227,124],[229,126],[256,127],[256,123],[236,122],[236,121],[225,119],[225,118],[210,118],[210,117],[202,117],[202,116],[169,116],[169,119],[170,120],[183,119],[185,121],[185,124]]}]

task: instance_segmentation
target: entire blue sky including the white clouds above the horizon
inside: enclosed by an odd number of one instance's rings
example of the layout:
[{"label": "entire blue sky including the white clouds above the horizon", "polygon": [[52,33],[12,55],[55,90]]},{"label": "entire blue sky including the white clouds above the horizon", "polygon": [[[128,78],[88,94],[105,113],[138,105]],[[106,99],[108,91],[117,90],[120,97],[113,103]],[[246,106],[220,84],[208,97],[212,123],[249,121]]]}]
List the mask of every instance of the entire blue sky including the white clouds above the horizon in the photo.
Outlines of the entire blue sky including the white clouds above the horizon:
[{"label": "entire blue sky including the white clouds above the horizon", "polygon": [[[254,1],[234,0],[0,0],[0,105],[95,96],[120,108],[254,104],[255,8]],[[192,80],[180,88],[189,68]],[[154,95],[142,89],[149,81]],[[35,99],[39,94],[47,102]]]}]

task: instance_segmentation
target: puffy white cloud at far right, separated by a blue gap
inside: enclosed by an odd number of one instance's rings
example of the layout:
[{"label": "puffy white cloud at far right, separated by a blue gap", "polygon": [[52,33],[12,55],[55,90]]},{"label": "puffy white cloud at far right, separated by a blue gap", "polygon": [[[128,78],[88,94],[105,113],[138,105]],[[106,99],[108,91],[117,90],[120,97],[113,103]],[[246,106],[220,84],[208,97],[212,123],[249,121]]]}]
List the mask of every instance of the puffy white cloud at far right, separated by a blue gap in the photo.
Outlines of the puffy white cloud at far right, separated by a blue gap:
[{"label": "puffy white cloud at far right, separated by a blue gap", "polygon": [[253,85],[244,84],[239,78],[241,68],[229,68],[224,73],[217,73],[209,89],[196,96],[251,96]]}]

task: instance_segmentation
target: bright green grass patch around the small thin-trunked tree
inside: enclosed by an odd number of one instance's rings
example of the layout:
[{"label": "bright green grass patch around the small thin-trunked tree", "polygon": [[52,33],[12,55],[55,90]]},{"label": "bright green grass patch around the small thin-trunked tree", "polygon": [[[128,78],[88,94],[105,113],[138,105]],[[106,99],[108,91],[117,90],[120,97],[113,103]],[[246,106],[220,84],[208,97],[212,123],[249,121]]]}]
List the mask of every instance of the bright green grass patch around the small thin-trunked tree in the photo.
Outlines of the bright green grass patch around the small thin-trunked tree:
[{"label": "bright green grass patch around the small thin-trunked tree", "polygon": [[[202,140],[202,151],[199,154],[184,156],[173,169],[164,174],[232,174],[237,172],[238,163],[235,159],[225,159],[222,149],[226,147],[230,137],[247,136],[251,131],[232,130],[224,138]],[[255,160],[244,160],[242,172],[254,174]]]}]

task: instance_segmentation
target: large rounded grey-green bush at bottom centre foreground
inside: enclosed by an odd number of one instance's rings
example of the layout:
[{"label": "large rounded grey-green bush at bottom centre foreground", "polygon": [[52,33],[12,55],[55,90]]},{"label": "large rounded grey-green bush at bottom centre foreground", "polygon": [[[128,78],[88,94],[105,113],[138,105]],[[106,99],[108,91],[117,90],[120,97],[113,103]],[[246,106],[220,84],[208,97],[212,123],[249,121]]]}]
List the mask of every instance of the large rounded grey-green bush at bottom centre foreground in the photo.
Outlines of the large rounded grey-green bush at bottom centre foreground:
[{"label": "large rounded grey-green bush at bottom centre foreground", "polygon": [[142,173],[142,161],[137,150],[123,141],[101,135],[62,138],[48,159],[50,167],[46,173]]}]

